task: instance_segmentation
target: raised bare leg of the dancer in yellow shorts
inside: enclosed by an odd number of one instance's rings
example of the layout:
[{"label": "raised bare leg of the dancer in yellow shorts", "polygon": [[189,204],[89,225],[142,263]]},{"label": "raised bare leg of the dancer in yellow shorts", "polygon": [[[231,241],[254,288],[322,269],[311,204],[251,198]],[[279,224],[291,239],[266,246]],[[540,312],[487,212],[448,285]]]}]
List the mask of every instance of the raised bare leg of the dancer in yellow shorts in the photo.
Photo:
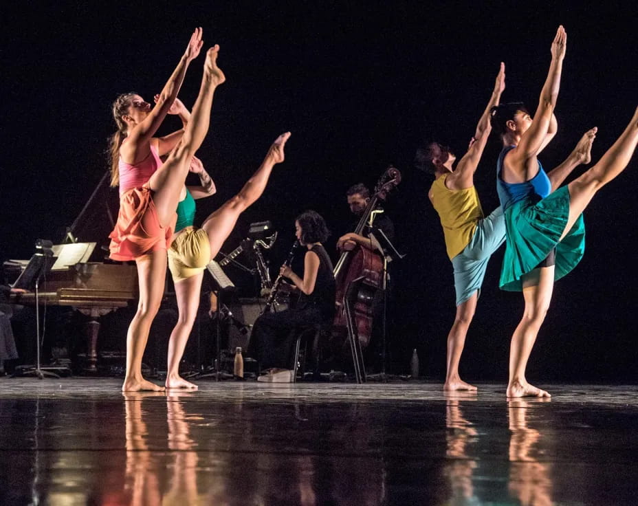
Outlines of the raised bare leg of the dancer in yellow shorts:
[{"label": "raised bare leg of the dancer in yellow shorts", "polygon": [[221,208],[210,214],[201,225],[201,228],[208,234],[211,259],[219,253],[221,245],[228,239],[230,232],[232,232],[239,218],[239,214],[246,210],[256,199],[261,197],[261,194],[266,188],[272,168],[275,164],[281,163],[284,160],[284,147],[289,137],[290,132],[279,135],[272,146],[270,146],[261,166],[259,166],[256,173],[248,179],[239,193],[226,201]]}]

